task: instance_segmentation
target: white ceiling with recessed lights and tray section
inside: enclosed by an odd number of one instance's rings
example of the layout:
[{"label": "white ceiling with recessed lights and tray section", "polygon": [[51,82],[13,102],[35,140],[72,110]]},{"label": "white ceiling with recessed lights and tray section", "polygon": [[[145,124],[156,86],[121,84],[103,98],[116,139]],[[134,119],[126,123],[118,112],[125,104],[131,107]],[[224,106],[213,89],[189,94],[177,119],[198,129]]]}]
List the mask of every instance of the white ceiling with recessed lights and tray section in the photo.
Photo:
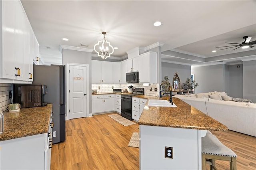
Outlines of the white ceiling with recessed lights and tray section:
[{"label": "white ceiling with recessed lights and tray section", "polygon": [[[22,5],[46,64],[61,64],[60,45],[82,47],[83,43],[88,45],[85,48],[93,49],[102,40],[102,31],[107,32],[108,42],[118,47],[112,54],[114,57],[123,57],[134,47],[156,42],[164,43],[163,59],[177,63],[196,65],[220,60],[231,63],[256,55],[256,45],[212,53],[215,47],[227,45],[225,42],[244,42],[243,36],[256,40],[255,0],[22,0]],[[153,26],[155,21],[162,25]],[[234,59],[230,53],[240,55]]]}]

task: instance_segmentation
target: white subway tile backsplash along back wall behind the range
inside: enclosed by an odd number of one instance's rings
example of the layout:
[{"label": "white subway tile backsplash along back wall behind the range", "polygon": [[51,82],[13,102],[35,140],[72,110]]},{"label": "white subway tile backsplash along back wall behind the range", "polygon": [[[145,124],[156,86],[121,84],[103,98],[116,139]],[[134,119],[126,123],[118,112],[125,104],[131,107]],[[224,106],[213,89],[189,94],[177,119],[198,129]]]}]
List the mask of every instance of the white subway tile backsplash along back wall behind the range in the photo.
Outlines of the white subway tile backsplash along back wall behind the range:
[{"label": "white subway tile backsplash along back wall behind the range", "polygon": [[[158,83],[156,84],[150,84],[150,86],[143,86],[143,84],[140,83],[135,83],[135,84],[130,84],[130,83],[124,83],[124,84],[105,84],[105,83],[92,83],[92,90],[96,89],[97,93],[111,93],[113,92],[113,89],[122,89],[124,90],[125,88],[128,89],[128,86],[132,85],[133,88],[144,88],[144,93],[145,95],[150,95],[150,96],[158,96],[159,95],[159,89],[158,89]],[[99,89],[100,87],[100,89]],[[155,91],[155,88],[157,88],[157,91]],[[152,89],[152,91],[151,91]],[[131,91],[130,91],[131,92]]]}]

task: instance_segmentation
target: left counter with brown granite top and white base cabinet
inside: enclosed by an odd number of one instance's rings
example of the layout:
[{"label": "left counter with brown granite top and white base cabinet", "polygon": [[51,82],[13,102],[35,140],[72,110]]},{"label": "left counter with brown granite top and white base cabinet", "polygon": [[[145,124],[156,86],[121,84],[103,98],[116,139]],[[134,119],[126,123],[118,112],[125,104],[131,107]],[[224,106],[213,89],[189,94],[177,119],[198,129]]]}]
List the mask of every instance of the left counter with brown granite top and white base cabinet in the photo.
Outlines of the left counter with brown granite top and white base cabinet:
[{"label": "left counter with brown granite top and white base cabinet", "polygon": [[4,112],[0,169],[50,170],[52,104]]}]

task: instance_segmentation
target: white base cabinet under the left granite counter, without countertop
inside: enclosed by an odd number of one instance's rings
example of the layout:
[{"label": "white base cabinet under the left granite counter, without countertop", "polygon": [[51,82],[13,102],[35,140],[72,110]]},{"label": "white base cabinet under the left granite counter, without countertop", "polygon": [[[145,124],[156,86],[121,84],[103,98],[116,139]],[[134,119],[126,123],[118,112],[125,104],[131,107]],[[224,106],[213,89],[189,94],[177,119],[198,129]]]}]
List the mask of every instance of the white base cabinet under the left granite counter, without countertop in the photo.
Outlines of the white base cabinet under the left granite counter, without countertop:
[{"label": "white base cabinet under the left granite counter, without countertop", "polygon": [[1,141],[0,169],[50,170],[52,136],[48,132]]}]

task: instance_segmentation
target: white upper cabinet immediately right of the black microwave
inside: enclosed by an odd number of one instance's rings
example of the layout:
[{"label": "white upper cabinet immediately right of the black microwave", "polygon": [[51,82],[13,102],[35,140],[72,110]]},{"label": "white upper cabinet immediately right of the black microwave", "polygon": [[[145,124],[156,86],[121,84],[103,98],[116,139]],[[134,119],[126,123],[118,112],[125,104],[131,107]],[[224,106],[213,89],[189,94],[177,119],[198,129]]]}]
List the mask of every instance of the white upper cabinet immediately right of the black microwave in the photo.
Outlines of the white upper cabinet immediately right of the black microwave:
[{"label": "white upper cabinet immediately right of the black microwave", "polygon": [[157,53],[147,52],[138,57],[139,83],[157,83]]}]

